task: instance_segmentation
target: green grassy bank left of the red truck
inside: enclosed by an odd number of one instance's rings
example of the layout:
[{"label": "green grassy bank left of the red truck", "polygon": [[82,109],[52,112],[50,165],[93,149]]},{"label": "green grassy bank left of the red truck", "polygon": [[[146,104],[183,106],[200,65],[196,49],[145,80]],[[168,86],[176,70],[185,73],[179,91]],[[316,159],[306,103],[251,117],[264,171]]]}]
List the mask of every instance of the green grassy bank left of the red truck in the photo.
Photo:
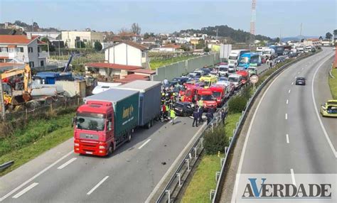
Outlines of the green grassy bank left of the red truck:
[{"label": "green grassy bank left of the red truck", "polygon": [[14,160],[14,165],[0,172],[0,176],[20,167],[73,136],[70,119],[73,114],[64,114],[51,119],[38,119],[12,136],[0,139],[0,164]]}]

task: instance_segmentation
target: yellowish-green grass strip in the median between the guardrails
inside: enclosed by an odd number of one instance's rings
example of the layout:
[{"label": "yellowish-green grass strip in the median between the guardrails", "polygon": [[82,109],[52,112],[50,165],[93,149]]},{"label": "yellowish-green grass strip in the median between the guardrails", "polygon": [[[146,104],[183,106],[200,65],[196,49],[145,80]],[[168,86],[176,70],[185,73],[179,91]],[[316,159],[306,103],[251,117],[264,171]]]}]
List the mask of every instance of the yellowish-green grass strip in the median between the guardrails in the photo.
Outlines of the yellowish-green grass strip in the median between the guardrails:
[{"label": "yellowish-green grass strip in the median between the guardrails", "polygon": [[[229,114],[225,119],[225,135],[232,136],[235,124],[239,121],[240,113]],[[203,155],[195,174],[189,183],[181,202],[209,202],[210,190],[215,189],[215,172],[220,170],[220,158],[223,154]]]}]

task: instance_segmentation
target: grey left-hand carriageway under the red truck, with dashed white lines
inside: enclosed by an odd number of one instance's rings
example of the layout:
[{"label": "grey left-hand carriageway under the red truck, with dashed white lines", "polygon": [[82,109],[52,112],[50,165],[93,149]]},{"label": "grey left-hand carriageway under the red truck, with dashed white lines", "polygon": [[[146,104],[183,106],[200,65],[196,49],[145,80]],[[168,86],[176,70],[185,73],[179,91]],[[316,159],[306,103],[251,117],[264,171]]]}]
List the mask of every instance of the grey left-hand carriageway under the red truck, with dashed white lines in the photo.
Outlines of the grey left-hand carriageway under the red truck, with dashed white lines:
[{"label": "grey left-hand carriageway under the red truck, with dashed white lines", "polygon": [[71,138],[0,177],[0,202],[144,202],[200,129],[177,121],[139,129],[109,158],[73,153]]}]

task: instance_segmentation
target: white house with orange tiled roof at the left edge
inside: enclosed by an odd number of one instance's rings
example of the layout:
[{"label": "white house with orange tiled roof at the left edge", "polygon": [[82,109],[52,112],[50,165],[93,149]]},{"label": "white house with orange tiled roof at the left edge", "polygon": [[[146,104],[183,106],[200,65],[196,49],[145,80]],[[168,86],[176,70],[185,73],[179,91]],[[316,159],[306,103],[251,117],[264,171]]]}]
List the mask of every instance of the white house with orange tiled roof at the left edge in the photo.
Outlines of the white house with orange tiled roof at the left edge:
[{"label": "white house with orange tiled roof at the left edge", "polygon": [[38,36],[0,35],[0,62],[28,62],[31,67],[46,67],[49,53],[42,51]]}]

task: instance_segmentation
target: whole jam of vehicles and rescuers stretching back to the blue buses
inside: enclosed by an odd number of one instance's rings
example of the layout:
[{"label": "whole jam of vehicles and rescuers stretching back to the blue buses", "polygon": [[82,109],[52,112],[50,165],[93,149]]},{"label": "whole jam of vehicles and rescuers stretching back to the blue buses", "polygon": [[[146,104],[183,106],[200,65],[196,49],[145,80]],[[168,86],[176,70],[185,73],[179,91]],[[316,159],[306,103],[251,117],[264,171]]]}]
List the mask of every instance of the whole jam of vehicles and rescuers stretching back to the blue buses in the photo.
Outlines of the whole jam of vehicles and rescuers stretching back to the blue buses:
[{"label": "whole jam of vehicles and rescuers stretching back to the blue buses", "polygon": [[255,53],[232,50],[228,62],[203,67],[171,81],[164,79],[161,85],[161,121],[174,124],[176,116],[191,116],[193,126],[198,126],[204,118],[209,123],[214,112],[245,86],[252,75],[257,75],[257,67],[267,63],[271,68],[302,53],[304,51],[296,49],[276,53],[273,48],[260,48]]}]

